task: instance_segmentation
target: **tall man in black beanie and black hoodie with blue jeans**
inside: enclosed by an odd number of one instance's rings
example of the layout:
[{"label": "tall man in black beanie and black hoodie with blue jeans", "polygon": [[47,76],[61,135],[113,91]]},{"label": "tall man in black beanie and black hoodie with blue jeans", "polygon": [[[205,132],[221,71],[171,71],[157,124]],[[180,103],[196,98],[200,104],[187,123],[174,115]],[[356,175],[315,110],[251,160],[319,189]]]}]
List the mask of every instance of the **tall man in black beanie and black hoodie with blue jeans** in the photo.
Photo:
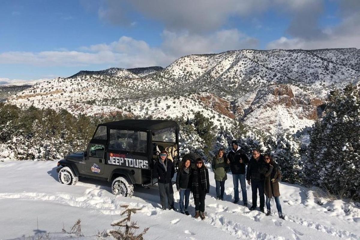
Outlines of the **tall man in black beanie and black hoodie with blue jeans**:
[{"label": "tall man in black beanie and black hoodie with blue jeans", "polygon": [[244,151],[240,149],[236,140],[231,142],[231,151],[228,153],[228,164],[230,164],[231,173],[233,174],[234,184],[234,203],[239,202],[239,181],[243,194],[244,206],[247,206],[245,166],[248,164],[249,158]]}]

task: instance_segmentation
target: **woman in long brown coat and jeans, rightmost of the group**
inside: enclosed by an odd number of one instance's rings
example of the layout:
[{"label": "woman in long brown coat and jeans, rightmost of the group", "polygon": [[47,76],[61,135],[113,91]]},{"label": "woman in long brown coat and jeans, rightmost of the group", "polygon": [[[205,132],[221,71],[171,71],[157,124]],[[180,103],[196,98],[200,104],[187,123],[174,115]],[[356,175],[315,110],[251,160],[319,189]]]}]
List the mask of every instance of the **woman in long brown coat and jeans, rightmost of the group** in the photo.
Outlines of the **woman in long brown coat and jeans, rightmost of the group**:
[{"label": "woman in long brown coat and jeans, rightmost of the group", "polygon": [[264,155],[265,160],[265,183],[264,183],[264,193],[266,196],[266,216],[271,214],[270,211],[270,200],[274,197],[276,202],[276,208],[279,212],[279,218],[284,219],[281,204],[280,204],[280,191],[279,191],[279,181],[281,181],[281,171],[279,170],[278,164],[271,159],[269,154]]}]

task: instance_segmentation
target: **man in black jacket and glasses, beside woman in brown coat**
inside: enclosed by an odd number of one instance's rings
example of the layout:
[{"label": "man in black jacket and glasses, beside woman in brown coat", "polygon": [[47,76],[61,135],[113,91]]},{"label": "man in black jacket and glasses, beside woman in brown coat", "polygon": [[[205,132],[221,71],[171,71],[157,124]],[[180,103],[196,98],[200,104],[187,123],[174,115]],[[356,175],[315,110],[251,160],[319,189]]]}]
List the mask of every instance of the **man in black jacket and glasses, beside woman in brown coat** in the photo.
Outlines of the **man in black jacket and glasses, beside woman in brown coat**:
[{"label": "man in black jacket and glasses, beside woman in brown coat", "polygon": [[260,151],[255,149],[252,151],[252,158],[249,161],[249,165],[246,172],[246,180],[251,185],[252,191],[252,206],[249,208],[251,211],[256,209],[257,204],[257,190],[259,190],[260,197],[260,211],[264,212],[265,197],[264,197],[264,181],[265,175],[262,174],[265,161],[261,156]]}]

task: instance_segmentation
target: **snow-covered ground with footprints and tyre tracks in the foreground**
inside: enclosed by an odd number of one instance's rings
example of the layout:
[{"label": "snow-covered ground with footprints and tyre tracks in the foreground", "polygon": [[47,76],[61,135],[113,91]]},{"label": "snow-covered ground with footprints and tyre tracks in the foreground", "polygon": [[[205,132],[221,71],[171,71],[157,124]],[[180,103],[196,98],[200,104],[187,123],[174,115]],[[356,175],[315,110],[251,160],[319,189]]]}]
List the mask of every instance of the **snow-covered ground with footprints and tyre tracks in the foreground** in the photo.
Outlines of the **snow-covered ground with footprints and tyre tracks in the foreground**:
[{"label": "snow-covered ground with footprints and tyre tracks in the foreground", "polygon": [[[111,229],[111,222],[121,218],[122,204],[142,208],[132,219],[138,221],[140,230],[150,227],[145,239],[360,239],[359,206],[317,198],[313,190],[298,185],[280,184],[285,214],[285,220],[280,220],[274,205],[273,215],[266,217],[232,203],[231,174],[225,183],[224,201],[216,200],[210,170],[207,217],[201,221],[161,210],[156,186],[136,187],[132,198],[115,197],[109,185],[95,180],[80,180],[74,186],[59,184],[56,168],[56,162],[0,162],[1,240],[38,239],[37,233],[42,239],[68,239],[69,234],[61,230],[69,231],[79,218],[85,235],[80,239],[100,239],[96,234]],[[251,203],[251,189],[247,188]],[[176,191],[175,202],[177,208]],[[193,198],[190,206],[189,212],[194,214]],[[47,238],[46,233],[50,233]]]}]

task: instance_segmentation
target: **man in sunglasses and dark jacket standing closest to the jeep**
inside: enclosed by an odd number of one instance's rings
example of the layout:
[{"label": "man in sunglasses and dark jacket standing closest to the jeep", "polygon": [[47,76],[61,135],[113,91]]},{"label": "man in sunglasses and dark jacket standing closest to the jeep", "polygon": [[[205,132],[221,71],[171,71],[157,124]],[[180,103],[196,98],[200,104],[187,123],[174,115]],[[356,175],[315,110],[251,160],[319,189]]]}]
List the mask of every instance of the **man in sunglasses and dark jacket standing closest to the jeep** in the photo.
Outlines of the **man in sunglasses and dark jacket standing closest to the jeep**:
[{"label": "man in sunglasses and dark jacket standing closest to the jeep", "polygon": [[162,209],[166,209],[166,198],[168,209],[174,208],[174,190],[172,189],[172,177],[175,174],[175,168],[170,159],[167,157],[166,150],[161,151],[159,161],[154,165],[154,177],[158,179],[158,186],[160,192],[160,201]]}]

